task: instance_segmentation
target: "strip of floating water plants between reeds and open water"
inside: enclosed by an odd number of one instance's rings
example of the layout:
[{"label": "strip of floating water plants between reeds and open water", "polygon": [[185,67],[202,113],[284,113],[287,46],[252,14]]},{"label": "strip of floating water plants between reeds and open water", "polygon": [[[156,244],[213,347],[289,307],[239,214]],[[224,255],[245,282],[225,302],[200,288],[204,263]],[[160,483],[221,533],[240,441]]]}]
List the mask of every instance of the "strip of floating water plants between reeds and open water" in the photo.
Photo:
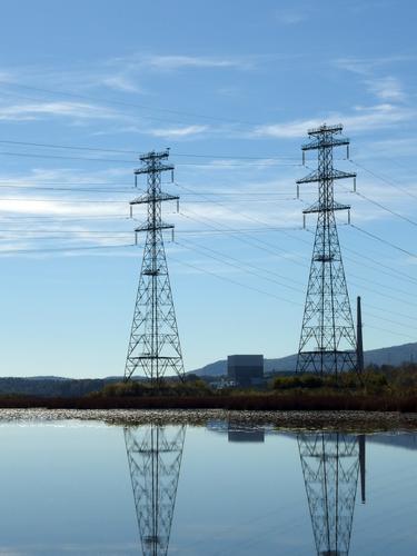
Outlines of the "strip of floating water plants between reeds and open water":
[{"label": "strip of floating water plants between reeds and open water", "polygon": [[227,410],[227,409],[48,409],[1,408],[0,425],[62,420],[102,421],[109,426],[190,425],[211,420],[234,425],[272,426],[278,429],[342,431],[417,431],[417,414],[399,411]]}]

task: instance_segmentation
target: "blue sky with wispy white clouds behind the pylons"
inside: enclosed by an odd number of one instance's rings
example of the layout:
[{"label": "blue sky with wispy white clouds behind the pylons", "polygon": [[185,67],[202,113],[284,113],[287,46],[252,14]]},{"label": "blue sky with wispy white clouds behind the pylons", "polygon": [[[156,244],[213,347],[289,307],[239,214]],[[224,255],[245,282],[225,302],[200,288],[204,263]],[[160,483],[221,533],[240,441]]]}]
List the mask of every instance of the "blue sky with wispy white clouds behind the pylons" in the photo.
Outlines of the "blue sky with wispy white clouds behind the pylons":
[{"label": "blue sky with wispy white clouds behind the pylons", "polygon": [[166,147],[166,189],[181,196],[165,218],[186,369],[295,353],[315,227],[309,216],[302,230],[301,211],[317,195],[295,199],[295,182],[308,172],[306,131],[324,121],[345,126],[351,160],[336,163],[358,173],[357,193],[338,182],[336,198],[351,205],[339,236],[365,347],[414,341],[416,11],[391,0],[2,2],[2,375],[123,371],[141,261],[129,247],[132,170]]}]

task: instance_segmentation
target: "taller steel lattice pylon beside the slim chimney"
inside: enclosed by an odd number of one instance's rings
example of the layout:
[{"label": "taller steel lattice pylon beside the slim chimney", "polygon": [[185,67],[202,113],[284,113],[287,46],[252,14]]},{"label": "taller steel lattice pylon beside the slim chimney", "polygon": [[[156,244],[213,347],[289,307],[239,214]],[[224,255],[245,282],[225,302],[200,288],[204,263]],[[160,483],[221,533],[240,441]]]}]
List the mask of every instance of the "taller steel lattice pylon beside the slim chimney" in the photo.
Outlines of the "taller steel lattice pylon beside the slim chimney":
[{"label": "taller steel lattice pylon beside the slim chimney", "polygon": [[298,350],[297,370],[320,374],[357,368],[356,337],[350,302],[341,260],[335,212],[349,210],[334,198],[336,179],[354,178],[356,173],[334,168],[334,148],[347,147],[349,140],[340,136],[342,126],[321,126],[308,131],[310,142],[305,152],[318,151],[318,168],[297,181],[299,185],[318,182],[318,201],[304,210],[304,218],[317,212],[317,228],[308,279],[306,306]]}]

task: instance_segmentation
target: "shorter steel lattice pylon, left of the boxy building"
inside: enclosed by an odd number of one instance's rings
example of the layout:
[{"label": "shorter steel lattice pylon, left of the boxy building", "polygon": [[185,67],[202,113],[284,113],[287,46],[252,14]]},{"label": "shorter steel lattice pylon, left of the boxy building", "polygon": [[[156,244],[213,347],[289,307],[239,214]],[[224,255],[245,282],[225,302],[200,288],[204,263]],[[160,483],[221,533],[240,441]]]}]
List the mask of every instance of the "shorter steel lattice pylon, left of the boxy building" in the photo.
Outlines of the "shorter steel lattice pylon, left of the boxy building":
[{"label": "shorter steel lattice pylon, left of the boxy building", "polygon": [[135,229],[146,231],[142,268],[140,271],[133,322],[131,327],[125,380],[137,370],[152,383],[159,383],[165,375],[183,378],[181,345],[178,336],[176,312],[169,281],[168,266],[163,247],[163,230],[173,230],[173,225],[161,218],[162,201],[179,197],[161,190],[161,173],[173,172],[173,165],[166,163],[169,150],[148,152],[140,157],[142,168],[135,170],[148,178],[147,192],[130,201],[130,214],[135,205],[148,206],[148,220]]}]

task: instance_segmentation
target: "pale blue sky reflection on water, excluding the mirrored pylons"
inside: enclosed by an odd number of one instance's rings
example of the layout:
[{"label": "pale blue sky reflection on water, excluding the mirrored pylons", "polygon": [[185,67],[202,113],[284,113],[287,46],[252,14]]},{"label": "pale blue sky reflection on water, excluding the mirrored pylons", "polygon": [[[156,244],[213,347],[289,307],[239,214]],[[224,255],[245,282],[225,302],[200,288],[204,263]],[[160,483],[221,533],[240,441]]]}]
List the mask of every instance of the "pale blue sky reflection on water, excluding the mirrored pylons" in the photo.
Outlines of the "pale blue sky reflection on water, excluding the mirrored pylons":
[{"label": "pale blue sky reflection on water, excluding the mirrored pylons", "polygon": [[[0,427],[0,554],[141,554],[122,427],[60,425]],[[367,440],[350,556],[417,554],[416,439]],[[187,427],[168,554],[315,555],[296,435]]]}]

